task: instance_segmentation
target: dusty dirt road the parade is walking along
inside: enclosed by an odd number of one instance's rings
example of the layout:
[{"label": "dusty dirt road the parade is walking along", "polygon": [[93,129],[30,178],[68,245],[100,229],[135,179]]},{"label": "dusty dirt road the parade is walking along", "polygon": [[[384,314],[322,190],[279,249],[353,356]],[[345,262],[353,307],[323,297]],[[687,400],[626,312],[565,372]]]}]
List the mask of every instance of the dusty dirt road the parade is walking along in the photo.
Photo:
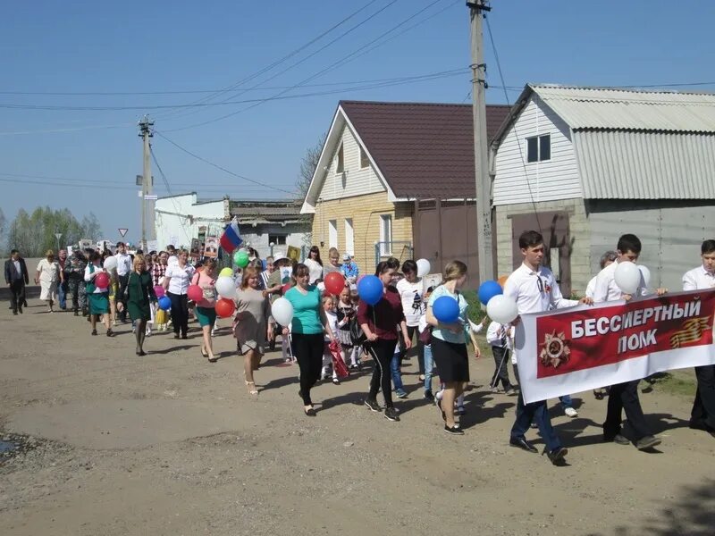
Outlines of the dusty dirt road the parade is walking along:
[{"label": "dusty dirt road the parade is walking along", "polygon": [[196,331],[154,335],[139,358],[129,326],[90,337],[30,305],[0,307],[0,440],[23,449],[0,465],[5,536],[713,533],[715,439],[687,428],[687,398],[642,396],[652,453],[603,444],[606,401],[590,393],[575,419],[553,407],[570,449],[554,467],[509,448],[516,400],[487,389],[491,356],[473,362],[466,434],[450,437],[414,358],[400,423],[361,406],[366,374],[317,387],[308,418],[278,353],[252,399],[227,335],[216,364]]}]

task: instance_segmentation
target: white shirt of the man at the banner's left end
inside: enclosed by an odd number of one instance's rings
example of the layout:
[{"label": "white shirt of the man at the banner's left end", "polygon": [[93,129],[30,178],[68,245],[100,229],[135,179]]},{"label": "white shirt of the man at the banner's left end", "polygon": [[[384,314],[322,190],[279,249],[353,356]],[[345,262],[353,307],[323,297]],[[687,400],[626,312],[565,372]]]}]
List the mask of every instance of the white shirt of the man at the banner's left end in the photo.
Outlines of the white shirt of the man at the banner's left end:
[{"label": "white shirt of the man at the banner's left end", "polygon": [[559,283],[545,266],[539,266],[535,272],[526,264],[519,266],[504,283],[504,295],[517,302],[519,314],[542,313],[551,308],[578,305],[576,300],[561,295]]}]

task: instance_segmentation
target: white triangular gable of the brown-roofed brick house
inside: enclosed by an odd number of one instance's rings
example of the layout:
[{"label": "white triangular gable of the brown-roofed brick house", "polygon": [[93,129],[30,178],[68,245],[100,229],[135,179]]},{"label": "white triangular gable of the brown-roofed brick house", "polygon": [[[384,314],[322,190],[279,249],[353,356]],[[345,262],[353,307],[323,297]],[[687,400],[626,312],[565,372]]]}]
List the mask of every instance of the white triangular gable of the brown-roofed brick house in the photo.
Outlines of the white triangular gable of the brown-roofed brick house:
[{"label": "white triangular gable of the brown-roofed brick house", "polygon": [[385,191],[383,183],[374,172],[373,166],[360,169],[360,146],[357,138],[346,125],[341,133],[343,144],[344,172],[338,173],[338,150],[335,146],[330,166],[325,176],[323,191],[319,198],[324,201],[351,196],[363,196]]}]

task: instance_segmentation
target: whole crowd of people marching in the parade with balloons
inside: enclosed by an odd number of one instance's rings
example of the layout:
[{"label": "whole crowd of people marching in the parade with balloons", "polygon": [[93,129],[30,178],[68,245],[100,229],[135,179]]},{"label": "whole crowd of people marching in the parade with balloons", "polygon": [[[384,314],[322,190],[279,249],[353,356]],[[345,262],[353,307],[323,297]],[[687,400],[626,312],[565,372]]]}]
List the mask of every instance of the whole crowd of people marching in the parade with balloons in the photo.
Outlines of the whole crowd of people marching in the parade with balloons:
[{"label": "whole crowd of people marching in the parade with balloons", "polygon": [[[623,235],[616,250],[602,256],[601,271],[589,282],[585,297],[580,300],[561,295],[559,283],[543,264],[544,243],[540,233],[526,231],[519,237],[518,246],[523,264],[503,283],[503,292],[517,304],[519,315],[633,297],[618,288],[614,274],[619,263],[635,262],[640,255],[641,242],[635,235]],[[702,264],[683,278],[685,290],[715,286],[715,240],[702,243],[701,256]],[[491,389],[517,396],[509,445],[536,452],[526,434],[530,428],[538,428],[546,445],[544,454],[554,465],[564,462],[568,450],[551,425],[546,400],[525,403],[519,392],[518,352],[513,343],[519,317],[509,324],[489,322],[487,318],[472,322],[462,292],[467,282],[466,264],[458,260],[450,262],[442,273],[441,284],[428,287],[418,277],[414,260],[400,264],[390,257],[375,268],[374,276],[382,284],[382,295],[371,304],[358,291],[360,273],[352,256],[340,255],[331,248],[328,257],[329,263],[323,264],[319,248],[311,247],[303,263],[282,254],[262,261],[249,248],[248,265],[232,268],[236,292],[232,297],[231,333],[236,339],[237,353],[243,357],[244,381],[250,396],[259,394],[256,372],[266,348],[273,350],[276,340],[281,339],[283,359],[298,365],[299,397],[305,415],[317,415],[311,397],[316,383],[332,381],[340,385],[348,371],[360,371],[372,362],[364,404],[387,420],[397,422],[400,412],[393,396],[408,396],[401,368],[415,347],[423,397],[439,408],[445,432],[462,435],[459,417],[466,412],[469,356],[481,356],[475,336],[486,327],[494,359]],[[53,251],[47,251],[46,258],[38,264],[35,281],[41,287],[40,300],[46,302],[49,313],[55,310],[55,304],[61,309],[70,308],[74,315],[88,318],[92,335],[97,335],[100,321],[108,337],[114,336],[116,322],[132,322],[138,356],[146,355],[145,338],[152,328],[166,331],[171,325],[174,338],[188,339],[189,317],[193,315],[201,329],[201,355],[214,363],[217,356],[212,338],[220,315],[217,309],[223,302],[215,289],[218,267],[214,258],[197,260],[189,259],[186,250],[171,246],[158,253],[143,255],[138,251],[132,256],[122,243],[117,245],[114,255],[76,251],[68,258],[66,251],[61,250],[55,258]],[[325,282],[326,278],[334,279],[330,275],[333,272],[341,274],[338,278],[341,289],[328,292]],[[100,278],[106,281],[100,284]],[[24,287],[29,283],[29,274],[16,250],[5,262],[5,280],[11,289],[13,314],[21,314],[27,304]],[[198,289],[198,294],[189,297],[189,288]],[[661,295],[667,289],[655,292]],[[646,293],[642,286],[635,295]],[[445,296],[458,304],[454,322],[441,322],[434,314],[435,301]],[[271,304],[279,297],[292,306],[289,325],[279,325],[273,319]],[[168,300],[164,306],[162,300]],[[165,309],[169,310],[170,318],[166,317]],[[515,382],[509,379],[509,362]],[[715,365],[698,367],[696,376],[698,387],[690,425],[715,435]],[[433,389],[435,377],[439,378],[439,389]],[[608,397],[603,440],[622,445],[632,442],[636,448],[646,450],[660,444],[660,439],[653,435],[644,417],[638,398],[639,381],[597,389],[594,396]],[[381,391],[383,404],[378,401]],[[577,415],[570,397],[561,398],[561,405],[567,415]],[[631,430],[630,440],[622,433],[624,412]]]}]

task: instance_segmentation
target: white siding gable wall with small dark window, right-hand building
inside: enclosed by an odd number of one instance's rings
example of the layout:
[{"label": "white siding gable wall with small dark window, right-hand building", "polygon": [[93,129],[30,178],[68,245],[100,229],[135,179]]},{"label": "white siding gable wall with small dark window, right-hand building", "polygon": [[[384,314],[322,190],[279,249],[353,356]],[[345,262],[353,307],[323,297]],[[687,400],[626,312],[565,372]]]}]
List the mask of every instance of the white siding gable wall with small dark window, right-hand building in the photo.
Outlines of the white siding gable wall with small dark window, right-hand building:
[{"label": "white siding gable wall with small dark window, right-hand building", "polygon": [[[526,138],[551,135],[551,160],[526,162]],[[497,149],[493,204],[583,197],[568,125],[532,96]],[[528,180],[527,180],[528,179]]]}]

